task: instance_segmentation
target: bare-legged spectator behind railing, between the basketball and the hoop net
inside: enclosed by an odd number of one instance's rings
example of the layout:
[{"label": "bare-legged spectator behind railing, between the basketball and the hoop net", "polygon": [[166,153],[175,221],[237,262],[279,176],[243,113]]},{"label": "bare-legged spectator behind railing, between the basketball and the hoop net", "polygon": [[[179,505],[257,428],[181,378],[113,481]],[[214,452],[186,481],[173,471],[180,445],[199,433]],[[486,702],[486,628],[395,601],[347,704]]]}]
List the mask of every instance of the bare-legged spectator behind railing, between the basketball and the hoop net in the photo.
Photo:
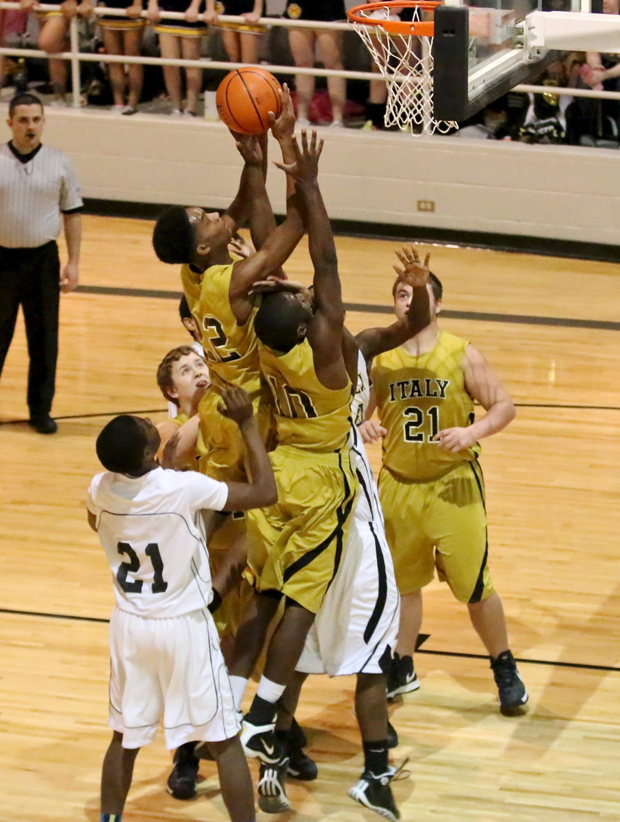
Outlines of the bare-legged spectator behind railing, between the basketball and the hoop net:
[{"label": "bare-legged spectator behind railing, between the basketball and the hoop net", "polygon": [[[315,20],[335,22],[345,19],[342,0],[322,0],[322,2],[289,2],[284,16],[289,20]],[[321,60],[325,68],[342,71],[342,31],[325,29],[289,29],[288,41],[295,65],[298,68],[312,68],[315,65],[315,49],[320,48]],[[315,92],[315,77],[309,74],[295,76],[297,92],[297,122],[301,126],[310,125],[310,104]],[[332,103],[332,127],[343,127],[343,109],[347,96],[344,77],[328,77],[327,87]]]}]

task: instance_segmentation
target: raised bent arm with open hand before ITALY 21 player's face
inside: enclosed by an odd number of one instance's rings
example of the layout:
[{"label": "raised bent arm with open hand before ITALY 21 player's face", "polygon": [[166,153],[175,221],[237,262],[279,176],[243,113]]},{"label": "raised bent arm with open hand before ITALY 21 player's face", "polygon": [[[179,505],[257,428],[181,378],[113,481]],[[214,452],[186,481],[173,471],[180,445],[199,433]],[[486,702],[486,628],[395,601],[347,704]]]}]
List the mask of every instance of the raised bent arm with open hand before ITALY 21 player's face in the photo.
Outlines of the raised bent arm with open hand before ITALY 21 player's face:
[{"label": "raised bent arm with open hand before ITALY 21 player's face", "polygon": [[402,266],[394,266],[394,270],[403,283],[411,285],[411,302],[402,320],[393,322],[387,328],[367,328],[356,336],[366,363],[370,363],[383,351],[396,349],[407,339],[415,337],[430,322],[429,293],[426,289],[430,274],[430,252],[423,263],[420,262],[415,246],[403,246],[401,251],[396,252],[396,256]]}]

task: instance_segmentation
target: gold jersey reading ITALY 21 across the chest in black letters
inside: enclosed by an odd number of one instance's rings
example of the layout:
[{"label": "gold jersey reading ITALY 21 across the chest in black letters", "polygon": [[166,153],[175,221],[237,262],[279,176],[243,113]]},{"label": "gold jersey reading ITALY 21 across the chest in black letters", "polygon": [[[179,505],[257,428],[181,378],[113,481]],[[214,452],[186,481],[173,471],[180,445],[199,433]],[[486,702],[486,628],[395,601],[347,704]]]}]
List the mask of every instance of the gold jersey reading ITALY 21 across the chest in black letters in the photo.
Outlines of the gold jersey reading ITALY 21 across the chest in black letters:
[{"label": "gold jersey reading ITALY 21 across the chest in black letters", "polygon": [[383,438],[383,465],[397,477],[434,479],[480,453],[477,443],[451,454],[432,441],[437,432],[466,427],[474,420],[463,372],[468,344],[441,331],[434,347],[419,357],[397,348],[374,359],[377,410],[388,431]]}]

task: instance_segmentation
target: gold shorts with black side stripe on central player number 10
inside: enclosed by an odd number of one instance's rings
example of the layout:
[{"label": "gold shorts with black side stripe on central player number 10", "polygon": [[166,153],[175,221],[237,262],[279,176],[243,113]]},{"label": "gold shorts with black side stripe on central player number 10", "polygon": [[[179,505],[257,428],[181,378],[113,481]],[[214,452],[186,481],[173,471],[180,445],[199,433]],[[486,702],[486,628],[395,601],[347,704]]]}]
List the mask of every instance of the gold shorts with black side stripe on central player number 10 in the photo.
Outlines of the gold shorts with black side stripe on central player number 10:
[{"label": "gold shorts with black side stripe on central player number 10", "polygon": [[279,591],[316,613],[342,558],[356,474],[347,448],[278,446],[270,456],[278,502],[246,513],[248,565],[259,592]]}]

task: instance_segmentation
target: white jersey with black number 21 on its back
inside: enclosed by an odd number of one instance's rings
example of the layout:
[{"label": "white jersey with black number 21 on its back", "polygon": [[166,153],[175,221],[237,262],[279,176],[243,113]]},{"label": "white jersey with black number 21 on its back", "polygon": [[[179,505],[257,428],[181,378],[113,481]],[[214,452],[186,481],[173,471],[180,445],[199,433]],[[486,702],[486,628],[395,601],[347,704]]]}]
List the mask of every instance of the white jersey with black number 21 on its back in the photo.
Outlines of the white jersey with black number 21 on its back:
[{"label": "white jersey with black number 21 on its back", "polygon": [[88,508],[122,611],[180,617],[209,604],[209,553],[197,514],[222,510],[227,496],[225,483],[195,471],[158,468],[142,477],[105,472],[93,478]]}]

